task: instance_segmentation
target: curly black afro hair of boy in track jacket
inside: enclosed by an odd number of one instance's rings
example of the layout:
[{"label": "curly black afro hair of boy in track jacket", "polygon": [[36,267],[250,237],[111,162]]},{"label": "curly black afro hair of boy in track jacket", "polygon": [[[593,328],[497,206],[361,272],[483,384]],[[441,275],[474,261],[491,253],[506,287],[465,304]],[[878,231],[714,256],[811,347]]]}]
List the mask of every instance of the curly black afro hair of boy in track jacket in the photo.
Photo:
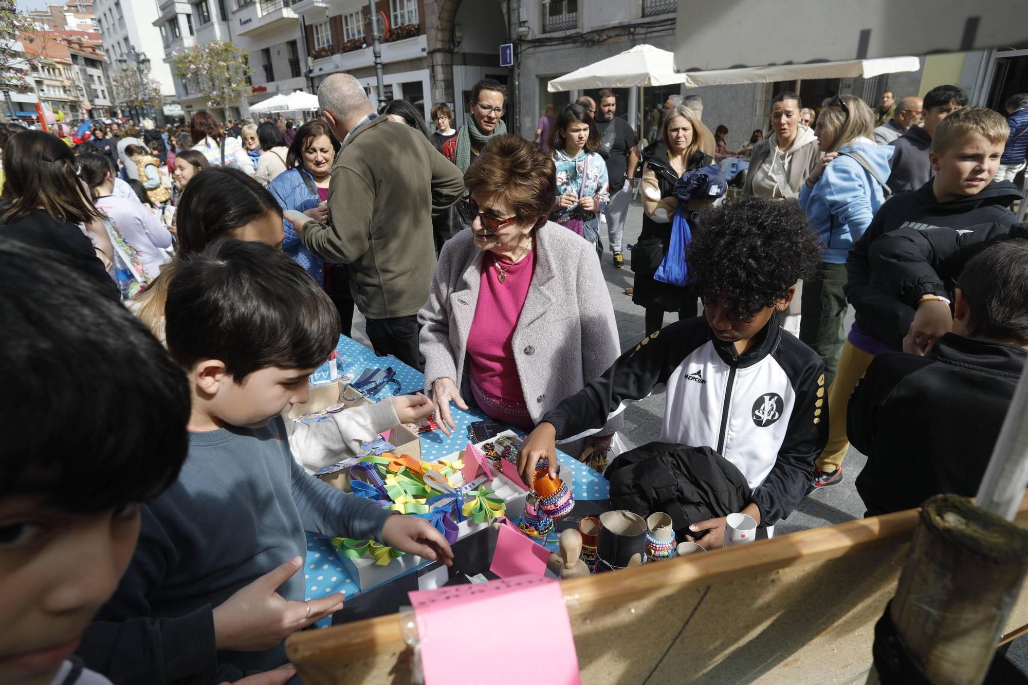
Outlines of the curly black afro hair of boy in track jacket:
[{"label": "curly black afro hair of boy in track jacket", "polygon": [[748,319],[814,273],[821,244],[797,203],[741,195],[703,215],[686,260],[704,302],[724,296]]}]

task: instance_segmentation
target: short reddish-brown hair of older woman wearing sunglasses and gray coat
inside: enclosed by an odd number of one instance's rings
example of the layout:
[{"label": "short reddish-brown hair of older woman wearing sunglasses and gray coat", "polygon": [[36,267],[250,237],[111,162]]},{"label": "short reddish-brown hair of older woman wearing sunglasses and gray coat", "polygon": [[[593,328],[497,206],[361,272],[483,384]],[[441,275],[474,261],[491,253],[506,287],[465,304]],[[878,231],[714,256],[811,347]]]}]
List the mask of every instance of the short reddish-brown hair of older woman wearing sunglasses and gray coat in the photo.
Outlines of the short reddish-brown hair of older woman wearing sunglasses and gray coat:
[{"label": "short reddish-brown hair of older woman wearing sunglasses and gray coat", "polygon": [[531,221],[537,230],[550,218],[557,195],[557,168],[539,145],[518,136],[493,137],[464,174],[471,194],[480,193]]}]

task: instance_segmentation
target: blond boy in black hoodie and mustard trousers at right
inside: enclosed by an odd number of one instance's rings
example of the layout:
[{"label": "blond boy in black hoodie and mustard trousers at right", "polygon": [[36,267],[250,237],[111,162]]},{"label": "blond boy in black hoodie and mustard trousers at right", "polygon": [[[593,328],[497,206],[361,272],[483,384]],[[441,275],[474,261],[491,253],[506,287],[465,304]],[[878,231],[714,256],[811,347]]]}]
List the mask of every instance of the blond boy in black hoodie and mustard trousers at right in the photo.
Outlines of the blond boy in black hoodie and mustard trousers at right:
[{"label": "blond boy in black hoodie and mustard trousers at right", "polygon": [[845,292],[856,309],[856,321],[829,388],[835,420],[829,443],[817,459],[813,489],[841,482],[842,461],[849,448],[845,419],[849,396],[875,355],[903,349],[914,318],[914,310],[890,296],[876,277],[868,261],[871,245],[903,226],[966,229],[991,221],[1014,223],[1016,217],[1006,207],[1021,193],[1013,183],[992,181],[1008,135],[1006,120],[985,107],[964,107],[947,116],[931,142],[934,178],[915,191],[889,199],[850,250]]}]

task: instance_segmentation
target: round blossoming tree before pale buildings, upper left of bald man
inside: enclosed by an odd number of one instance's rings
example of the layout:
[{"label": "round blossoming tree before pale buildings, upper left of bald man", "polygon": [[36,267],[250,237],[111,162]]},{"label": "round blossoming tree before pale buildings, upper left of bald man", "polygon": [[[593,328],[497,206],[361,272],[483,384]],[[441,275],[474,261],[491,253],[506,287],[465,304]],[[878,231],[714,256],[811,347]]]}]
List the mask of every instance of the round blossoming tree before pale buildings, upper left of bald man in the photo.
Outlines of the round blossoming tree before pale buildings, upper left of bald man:
[{"label": "round blossoming tree before pale buildings, upper left of bald man", "polygon": [[208,96],[208,106],[226,107],[250,94],[249,55],[232,43],[214,40],[177,53],[172,66],[193,93]]}]

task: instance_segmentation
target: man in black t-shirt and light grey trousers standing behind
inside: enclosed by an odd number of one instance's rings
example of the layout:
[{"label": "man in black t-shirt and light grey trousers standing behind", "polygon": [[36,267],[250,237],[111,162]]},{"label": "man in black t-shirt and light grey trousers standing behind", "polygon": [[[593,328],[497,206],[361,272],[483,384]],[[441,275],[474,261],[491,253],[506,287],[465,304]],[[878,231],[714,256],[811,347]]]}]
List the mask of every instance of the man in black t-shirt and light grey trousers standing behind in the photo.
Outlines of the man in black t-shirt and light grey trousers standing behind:
[{"label": "man in black t-shirt and light grey trousers standing behind", "polygon": [[625,218],[632,199],[631,184],[627,181],[635,177],[635,167],[639,161],[638,140],[631,125],[614,113],[618,109],[618,99],[613,91],[599,92],[599,107],[593,117],[599,130],[599,154],[607,160],[607,175],[611,184],[611,202],[603,212],[607,235],[614,252],[615,268],[625,265],[621,255],[621,239],[625,232]]}]

